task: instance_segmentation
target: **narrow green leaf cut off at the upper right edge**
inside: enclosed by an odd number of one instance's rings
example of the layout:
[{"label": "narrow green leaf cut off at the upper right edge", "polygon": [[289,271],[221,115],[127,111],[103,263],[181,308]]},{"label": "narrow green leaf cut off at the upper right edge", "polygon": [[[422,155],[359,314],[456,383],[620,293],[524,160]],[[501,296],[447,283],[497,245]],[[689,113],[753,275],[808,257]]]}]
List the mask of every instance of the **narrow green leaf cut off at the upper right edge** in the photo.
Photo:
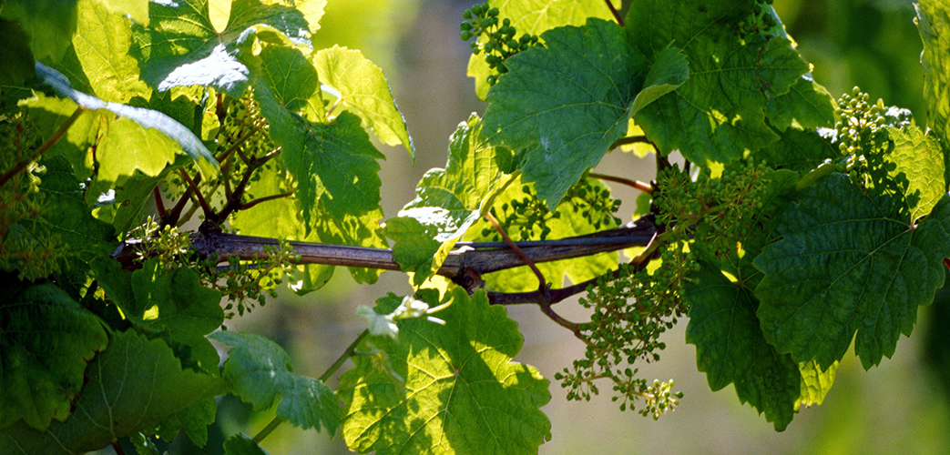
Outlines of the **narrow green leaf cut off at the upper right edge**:
[{"label": "narrow green leaf cut off at the upper right edge", "polygon": [[[927,100],[932,128],[945,144],[950,143],[950,6],[944,0],[921,0],[917,28],[923,40],[923,98]],[[950,173],[950,154],[945,154],[945,172]],[[950,180],[950,177],[946,178]]]}]

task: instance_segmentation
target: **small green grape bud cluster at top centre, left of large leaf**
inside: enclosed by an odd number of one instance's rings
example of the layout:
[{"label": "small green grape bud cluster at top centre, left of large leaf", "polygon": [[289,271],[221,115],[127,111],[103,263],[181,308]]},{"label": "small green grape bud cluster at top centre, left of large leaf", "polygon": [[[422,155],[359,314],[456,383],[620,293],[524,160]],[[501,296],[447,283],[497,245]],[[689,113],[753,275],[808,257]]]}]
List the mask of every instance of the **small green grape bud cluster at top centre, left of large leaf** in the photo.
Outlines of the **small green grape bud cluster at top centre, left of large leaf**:
[{"label": "small green grape bud cluster at top centre, left of large leaf", "polygon": [[499,76],[508,72],[507,66],[504,66],[505,60],[538,44],[538,37],[528,33],[515,39],[518,30],[511,25],[510,19],[505,18],[499,26],[499,12],[497,8],[489,8],[487,3],[475,5],[462,13],[465,21],[459,26],[462,28],[462,41],[476,38],[469,44],[472,53],[479,55],[484,52],[485,63],[497,72],[488,75],[488,85],[495,85]]}]

